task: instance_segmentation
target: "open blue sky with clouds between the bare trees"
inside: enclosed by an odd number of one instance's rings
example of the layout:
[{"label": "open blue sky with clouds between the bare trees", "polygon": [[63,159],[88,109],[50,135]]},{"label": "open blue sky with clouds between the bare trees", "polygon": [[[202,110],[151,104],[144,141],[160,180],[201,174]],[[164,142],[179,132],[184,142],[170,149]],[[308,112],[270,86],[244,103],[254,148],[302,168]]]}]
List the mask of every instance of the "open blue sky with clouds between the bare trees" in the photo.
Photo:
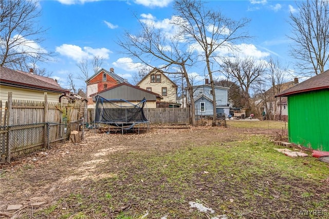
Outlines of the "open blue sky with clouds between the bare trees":
[{"label": "open blue sky with clouds between the bare trees", "polygon": [[[56,54],[53,62],[41,67],[52,72],[51,77],[58,79],[65,88],[68,88],[68,74],[76,77],[80,74],[77,63],[93,56],[102,56],[105,62],[101,67],[113,67],[117,75],[134,84],[133,75],[137,74],[138,63],[120,53],[122,48],[116,42],[125,30],[139,31],[134,13],[140,18],[152,17],[153,22],[162,26],[169,26],[173,15],[171,0],[41,0],[39,4],[42,11],[40,25],[48,29],[46,40],[40,46]],[[294,1],[209,1],[207,5],[230,19],[246,17],[251,20],[245,30],[253,37],[240,45],[242,53],[256,59],[278,58],[294,72],[287,38],[290,34],[289,14],[297,13]],[[199,75],[200,81],[205,78],[198,69],[194,69],[193,74]],[[289,76],[293,78],[293,75]],[[75,84],[77,88],[85,87],[78,79]]]}]

